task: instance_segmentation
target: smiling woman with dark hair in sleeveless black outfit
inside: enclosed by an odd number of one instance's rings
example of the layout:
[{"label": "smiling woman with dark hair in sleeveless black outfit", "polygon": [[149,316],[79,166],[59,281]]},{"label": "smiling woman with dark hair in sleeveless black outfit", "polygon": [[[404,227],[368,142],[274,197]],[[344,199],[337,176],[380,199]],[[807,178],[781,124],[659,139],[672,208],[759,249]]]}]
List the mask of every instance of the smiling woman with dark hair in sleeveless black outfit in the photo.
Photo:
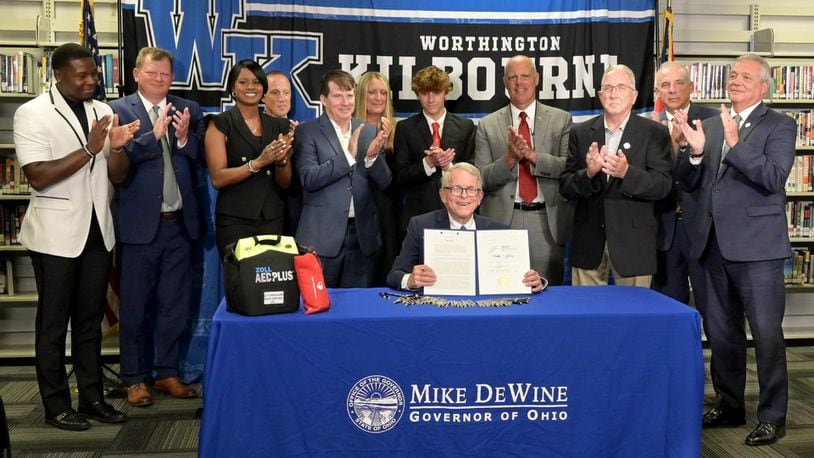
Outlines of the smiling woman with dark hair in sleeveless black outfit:
[{"label": "smiling woman with dark hair in sleeveless black outfit", "polygon": [[294,134],[287,119],[261,113],[268,81],[253,60],[230,70],[227,90],[235,107],[212,116],[205,137],[209,177],[218,190],[215,240],[221,257],[240,238],[282,233]]}]

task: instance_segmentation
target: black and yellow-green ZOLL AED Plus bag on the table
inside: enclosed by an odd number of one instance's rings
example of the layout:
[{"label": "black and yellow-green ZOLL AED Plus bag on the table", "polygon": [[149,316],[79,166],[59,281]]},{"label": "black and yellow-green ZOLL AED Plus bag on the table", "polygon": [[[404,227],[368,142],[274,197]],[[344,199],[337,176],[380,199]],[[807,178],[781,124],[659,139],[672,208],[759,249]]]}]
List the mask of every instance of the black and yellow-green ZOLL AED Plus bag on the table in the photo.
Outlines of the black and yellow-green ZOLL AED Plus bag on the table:
[{"label": "black and yellow-green ZOLL AED Plus bag on the table", "polygon": [[294,273],[294,237],[258,235],[226,246],[226,310],[257,316],[296,312],[300,290]]}]

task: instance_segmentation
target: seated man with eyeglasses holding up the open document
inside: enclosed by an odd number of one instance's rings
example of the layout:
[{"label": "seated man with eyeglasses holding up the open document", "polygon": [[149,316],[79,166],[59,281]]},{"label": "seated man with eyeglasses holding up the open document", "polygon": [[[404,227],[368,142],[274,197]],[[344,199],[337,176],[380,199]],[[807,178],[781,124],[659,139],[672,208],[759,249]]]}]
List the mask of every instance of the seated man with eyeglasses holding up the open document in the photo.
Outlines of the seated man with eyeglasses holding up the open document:
[{"label": "seated man with eyeglasses holding up the open document", "polygon": [[[475,214],[483,200],[483,182],[480,171],[472,164],[459,162],[450,166],[441,178],[438,192],[445,208],[410,219],[401,253],[387,275],[387,286],[418,290],[435,284],[435,272],[424,264],[424,229],[474,231],[509,228],[500,221]],[[526,272],[523,284],[532,292],[543,289],[543,280],[536,270]]]}]

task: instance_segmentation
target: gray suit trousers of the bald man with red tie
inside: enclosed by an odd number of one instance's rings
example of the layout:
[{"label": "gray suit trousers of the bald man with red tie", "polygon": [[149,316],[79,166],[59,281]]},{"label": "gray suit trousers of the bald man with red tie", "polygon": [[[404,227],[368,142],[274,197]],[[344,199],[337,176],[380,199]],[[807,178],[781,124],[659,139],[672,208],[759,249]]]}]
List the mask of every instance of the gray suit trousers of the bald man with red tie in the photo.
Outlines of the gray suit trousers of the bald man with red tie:
[{"label": "gray suit trousers of the bald man with red tie", "polygon": [[528,229],[531,268],[552,286],[562,284],[565,270],[565,246],[557,245],[548,227],[546,209],[526,211],[514,209],[512,229]]}]

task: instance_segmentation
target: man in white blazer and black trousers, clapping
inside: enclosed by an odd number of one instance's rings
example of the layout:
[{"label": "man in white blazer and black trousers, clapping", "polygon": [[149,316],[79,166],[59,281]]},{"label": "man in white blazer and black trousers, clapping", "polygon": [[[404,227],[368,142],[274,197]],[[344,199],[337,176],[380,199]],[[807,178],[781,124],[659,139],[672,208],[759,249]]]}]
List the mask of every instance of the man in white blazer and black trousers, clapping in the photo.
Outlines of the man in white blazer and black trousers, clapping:
[{"label": "man in white blazer and black trousers, clapping", "polygon": [[[138,122],[119,126],[110,107],[92,100],[99,77],[86,48],[58,47],[52,67],[56,84],[14,114],[17,159],[33,188],[20,241],[31,255],[39,293],[35,364],[45,422],[84,430],[88,418],[126,418],[102,397],[101,322],[115,243],[107,156],[122,154]],[[65,372],[69,320],[77,410]]]}]

